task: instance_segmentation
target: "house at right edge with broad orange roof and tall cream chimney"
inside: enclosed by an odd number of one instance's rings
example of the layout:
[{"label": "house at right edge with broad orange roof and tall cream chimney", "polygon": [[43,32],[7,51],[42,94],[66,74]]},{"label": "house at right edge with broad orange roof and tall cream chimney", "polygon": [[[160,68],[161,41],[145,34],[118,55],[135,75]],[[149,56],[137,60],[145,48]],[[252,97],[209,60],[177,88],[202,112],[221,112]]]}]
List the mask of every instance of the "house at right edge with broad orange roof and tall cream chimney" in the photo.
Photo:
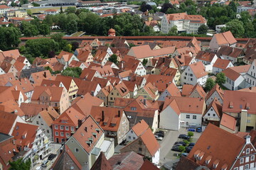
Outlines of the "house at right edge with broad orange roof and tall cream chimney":
[{"label": "house at right edge with broad orange roof and tall cream chimney", "polygon": [[225,91],[223,99],[223,113],[227,113],[238,120],[240,132],[255,129],[255,92]]}]

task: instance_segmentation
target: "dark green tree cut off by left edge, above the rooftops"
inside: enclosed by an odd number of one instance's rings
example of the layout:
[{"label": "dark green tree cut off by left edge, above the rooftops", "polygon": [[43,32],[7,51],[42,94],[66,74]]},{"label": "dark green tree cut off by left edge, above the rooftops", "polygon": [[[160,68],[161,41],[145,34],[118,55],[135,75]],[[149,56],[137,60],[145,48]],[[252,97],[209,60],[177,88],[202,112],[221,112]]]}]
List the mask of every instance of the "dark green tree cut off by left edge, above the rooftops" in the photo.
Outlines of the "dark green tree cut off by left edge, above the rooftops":
[{"label": "dark green tree cut off by left edge, above the rooftops", "polygon": [[14,27],[0,27],[0,50],[12,50],[21,42],[21,31]]}]

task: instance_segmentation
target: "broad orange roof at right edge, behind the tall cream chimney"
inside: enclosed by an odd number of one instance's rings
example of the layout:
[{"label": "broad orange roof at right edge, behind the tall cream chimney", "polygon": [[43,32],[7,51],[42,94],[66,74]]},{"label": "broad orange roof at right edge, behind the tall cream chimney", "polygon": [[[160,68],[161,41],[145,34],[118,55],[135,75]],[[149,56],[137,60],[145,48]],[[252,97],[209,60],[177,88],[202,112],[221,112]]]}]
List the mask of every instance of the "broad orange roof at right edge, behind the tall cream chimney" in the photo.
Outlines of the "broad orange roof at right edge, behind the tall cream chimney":
[{"label": "broad orange roof at right edge, behind the tall cream chimney", "polygon": [[255,92],[224,91],[223,112],[240,113],[246,109],[249,114],[256,113]]}]

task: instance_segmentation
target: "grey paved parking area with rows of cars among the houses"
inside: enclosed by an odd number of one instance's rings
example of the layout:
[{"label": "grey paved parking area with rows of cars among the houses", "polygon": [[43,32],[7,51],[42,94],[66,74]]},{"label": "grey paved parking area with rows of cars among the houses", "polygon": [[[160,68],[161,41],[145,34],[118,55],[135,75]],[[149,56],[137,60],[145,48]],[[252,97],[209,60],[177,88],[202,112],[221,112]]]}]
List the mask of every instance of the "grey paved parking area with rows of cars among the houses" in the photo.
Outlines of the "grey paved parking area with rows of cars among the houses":
[{"label": "grey paved parking area with rows of cars among the houses", "polygon": [[[178,138],[178,135],[180,134],[188,134],[188,131],[186,128],[180,128],[178,131],[174,130],[163,130],[165,132],[164,139],[159,141],[159,144],[161,146],[160,148],[160,162],[159,165],[163,165],[166,162],[170,162],[174,159],[177,159],[175,156],[176,154],[179,154],[180,152],[171,151],[171,148],[174,146],[175,142],[183,141],[182,139]],[[195,142],[198,140],[198,138],[201,136],[202,132],[193,132],[194,136],[191,142]]]}]

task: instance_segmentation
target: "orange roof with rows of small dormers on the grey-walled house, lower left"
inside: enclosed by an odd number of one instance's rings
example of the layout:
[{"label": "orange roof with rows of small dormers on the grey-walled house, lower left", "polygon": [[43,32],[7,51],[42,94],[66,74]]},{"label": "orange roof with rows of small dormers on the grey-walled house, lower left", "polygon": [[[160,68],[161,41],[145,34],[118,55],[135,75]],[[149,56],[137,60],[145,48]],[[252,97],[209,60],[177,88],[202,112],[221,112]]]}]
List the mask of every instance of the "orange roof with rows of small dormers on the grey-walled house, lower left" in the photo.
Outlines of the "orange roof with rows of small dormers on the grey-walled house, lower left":
[{"label": "orange roof with rows of small dormers on the grey-walled house, lower left", "polygon": [[104,135],[104,131],[100,128],[100,125],[95,122],[92,116],[89,115],[72,137],[90,154],[102,135]]}]

